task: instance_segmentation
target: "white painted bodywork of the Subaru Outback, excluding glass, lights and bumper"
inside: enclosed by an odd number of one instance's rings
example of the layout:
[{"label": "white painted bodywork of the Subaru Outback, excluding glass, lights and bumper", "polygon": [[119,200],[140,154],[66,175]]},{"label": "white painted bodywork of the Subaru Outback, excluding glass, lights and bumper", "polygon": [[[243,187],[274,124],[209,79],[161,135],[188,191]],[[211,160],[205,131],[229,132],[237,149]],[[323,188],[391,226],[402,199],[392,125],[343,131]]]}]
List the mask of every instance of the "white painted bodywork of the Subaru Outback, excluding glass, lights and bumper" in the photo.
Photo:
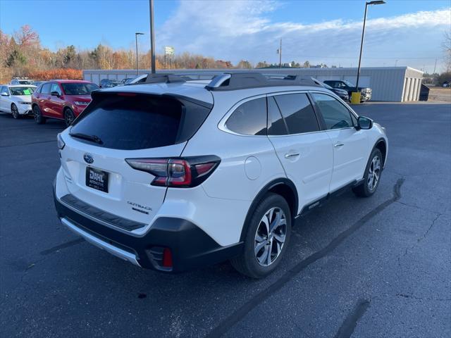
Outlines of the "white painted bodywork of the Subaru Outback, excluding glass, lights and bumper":
[{"label": "white painted bodywork of the Subaru Outback, excluding glass, lights and bumper", "polygon": [[[326,91],[318,87],[288,89]],[[137,84],[106,89],[111,92],[181,94],[214,103],[214,108],[188,142],[156,149],[105,149],[73,139],[65,130],[61,134],[66,146],[61,151],[56,196],[61,198],[70,193],[101,210],[147,224],[135,230],[135,235],[149,231],[157,218],[172,217],[190,220],[221,246],[236,244],[240,242],[249,207],[266,184],[280,178],[292,180],[299,193],[299,212],[335,187],[361,179],[375,142],[381,138],[387,141],[378,125],[358,132],[352,128],[283,137],[242,136],[221,130],[221,121],[243,101],[289,92],[288,89],[271,87],[208,92],[202,84]],[[335,139],[345,142],[346,148],[335,152]],[[299,157],[286,159],[285,154],[292,151],[299,152]],[[110,173],[109,194],[85,186],[85,153],[94,158],[94,168]],[[205,182],[185,189],[151,186],[152,175],[134,170],[125,162],[125,158],[204,155],[218,156],[221,163]],[[359,160],[354,161],[355,158]],[[333,168],[340,168],[340,165],[342,170],[333,173]],[[150,206],[152,212],[149,215],[137,213],[127,201]]]}]

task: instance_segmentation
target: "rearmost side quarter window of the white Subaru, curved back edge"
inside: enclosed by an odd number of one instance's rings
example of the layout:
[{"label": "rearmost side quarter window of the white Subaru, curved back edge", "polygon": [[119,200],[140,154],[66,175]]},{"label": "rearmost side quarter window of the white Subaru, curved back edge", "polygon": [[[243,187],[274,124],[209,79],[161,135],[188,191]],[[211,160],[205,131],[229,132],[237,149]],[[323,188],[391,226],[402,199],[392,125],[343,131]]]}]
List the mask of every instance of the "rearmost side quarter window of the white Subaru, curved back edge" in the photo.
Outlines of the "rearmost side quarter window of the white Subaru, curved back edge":
[{"label": "rearmost side quarter window of the white Subaru, curved back edge", "polygon": [[266,98],[247,101],[230,115],[226,127],[243,135],[266,135]]}]

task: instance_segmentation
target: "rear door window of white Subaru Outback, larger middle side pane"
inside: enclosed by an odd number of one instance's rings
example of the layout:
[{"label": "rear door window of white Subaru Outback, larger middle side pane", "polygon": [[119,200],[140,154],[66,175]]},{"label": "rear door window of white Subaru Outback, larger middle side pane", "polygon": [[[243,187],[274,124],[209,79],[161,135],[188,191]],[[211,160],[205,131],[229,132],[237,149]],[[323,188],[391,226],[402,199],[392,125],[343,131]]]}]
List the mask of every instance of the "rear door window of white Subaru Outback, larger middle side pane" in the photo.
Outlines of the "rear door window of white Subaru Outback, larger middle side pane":
[{"label": "rear door window of white Subaru Outback, larger middle side pane", "polygon": [[274,98],[285,119],[289,134],[319,130],[318,120],[307,94],[285,94]]}]

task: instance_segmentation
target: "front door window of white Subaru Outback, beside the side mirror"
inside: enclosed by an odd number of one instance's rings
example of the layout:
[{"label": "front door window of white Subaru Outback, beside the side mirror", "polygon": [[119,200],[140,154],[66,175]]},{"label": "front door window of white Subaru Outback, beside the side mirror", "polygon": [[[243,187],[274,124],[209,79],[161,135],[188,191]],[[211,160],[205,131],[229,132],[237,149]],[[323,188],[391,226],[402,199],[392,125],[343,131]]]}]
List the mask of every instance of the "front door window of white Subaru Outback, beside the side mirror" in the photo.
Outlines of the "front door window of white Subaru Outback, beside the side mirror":
[{"label": "front door window of white Subaru Outback, beside the side mirror", "polygon": [[327,129],[352,127],[350,111],[338,100],[326,94],[312,93],[316,104],[321,110]]}]

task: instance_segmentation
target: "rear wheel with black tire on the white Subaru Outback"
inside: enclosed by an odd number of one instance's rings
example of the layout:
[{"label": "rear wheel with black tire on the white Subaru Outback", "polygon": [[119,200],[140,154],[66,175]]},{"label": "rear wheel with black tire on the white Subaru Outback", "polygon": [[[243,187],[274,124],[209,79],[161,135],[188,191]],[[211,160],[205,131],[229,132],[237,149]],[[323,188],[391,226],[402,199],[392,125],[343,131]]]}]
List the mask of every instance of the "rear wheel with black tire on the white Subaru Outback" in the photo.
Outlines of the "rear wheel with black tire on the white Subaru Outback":
[{"label": "rear wheel with black tire on the white Subaru Outback", "polygon": [[[268,234],[266,223],[271,227],[277,219],[279,222]],[[243,252],[230,263],[243,275],[265,277],[276,270],[290,242],[291,211],[287,201],[278,194],[267,194],[247,225]]]}]

